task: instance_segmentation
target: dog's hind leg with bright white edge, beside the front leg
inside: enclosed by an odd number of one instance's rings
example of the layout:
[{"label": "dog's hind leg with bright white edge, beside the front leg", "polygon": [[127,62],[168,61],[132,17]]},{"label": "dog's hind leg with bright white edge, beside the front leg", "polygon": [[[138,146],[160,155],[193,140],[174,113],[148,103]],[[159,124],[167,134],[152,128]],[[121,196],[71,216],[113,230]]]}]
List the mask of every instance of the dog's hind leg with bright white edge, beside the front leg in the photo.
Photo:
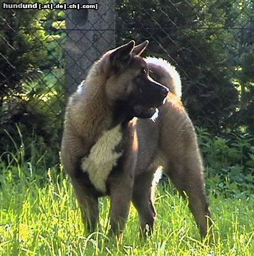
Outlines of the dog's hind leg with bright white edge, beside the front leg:
[{"label": "dog's hind leg with bright white edge, beside the front leg", "polygon": [[132,203],[138,211],[141,236],[150,236],[154,230],[156,210],[154,207],[154,172],[145,172],[135,177]]}]

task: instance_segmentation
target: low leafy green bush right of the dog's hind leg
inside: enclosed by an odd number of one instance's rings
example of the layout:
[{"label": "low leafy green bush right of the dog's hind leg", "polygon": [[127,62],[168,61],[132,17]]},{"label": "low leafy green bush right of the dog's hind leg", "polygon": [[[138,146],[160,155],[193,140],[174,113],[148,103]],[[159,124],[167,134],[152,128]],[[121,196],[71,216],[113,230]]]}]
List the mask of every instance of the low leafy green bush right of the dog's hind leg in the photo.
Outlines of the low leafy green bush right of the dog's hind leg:
[{"label": "low leafy green bush right of the dog's hind leg", "polygon": [[253,191],[254,137],[240,131],[225,137],[212,137],[208,130],[196,129],[213,191]]}]

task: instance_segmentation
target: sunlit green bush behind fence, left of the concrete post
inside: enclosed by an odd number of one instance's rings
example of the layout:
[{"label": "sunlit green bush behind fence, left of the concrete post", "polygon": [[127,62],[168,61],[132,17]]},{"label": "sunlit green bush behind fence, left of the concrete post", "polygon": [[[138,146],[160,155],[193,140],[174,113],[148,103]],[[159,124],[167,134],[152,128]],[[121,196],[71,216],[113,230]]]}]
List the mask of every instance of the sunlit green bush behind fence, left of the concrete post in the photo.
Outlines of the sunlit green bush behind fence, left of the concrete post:
[{"label": "sunlit green bush behind fence, left of the concrete post", "polygon": [[0,9],[0,16],[5,39],[0,40],[0,151],[15,152],[6,131],[18,142],[18,125],[24,144],[36,137],[45,151],[54,148],[52,164],[58,161],[65,102],[60,61],[64,51],[58,43],[64,35],[57,30],[47,34],[44,26],[53,24],[57,12]]}]

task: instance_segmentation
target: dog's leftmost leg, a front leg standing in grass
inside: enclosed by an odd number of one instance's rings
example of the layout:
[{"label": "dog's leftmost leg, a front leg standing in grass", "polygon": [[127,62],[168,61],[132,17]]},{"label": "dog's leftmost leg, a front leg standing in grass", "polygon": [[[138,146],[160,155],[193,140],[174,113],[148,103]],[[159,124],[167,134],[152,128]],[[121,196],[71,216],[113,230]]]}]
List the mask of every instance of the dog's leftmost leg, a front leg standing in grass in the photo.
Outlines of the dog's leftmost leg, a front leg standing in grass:
[{"label": "dog's leftmost leg, a front leg standing in grass", "polygon": [[88,233],[94,232],[99,218],[98,197],[86,187],[82,177],[72,180],[73,188],[81,208],[81,216]]}]

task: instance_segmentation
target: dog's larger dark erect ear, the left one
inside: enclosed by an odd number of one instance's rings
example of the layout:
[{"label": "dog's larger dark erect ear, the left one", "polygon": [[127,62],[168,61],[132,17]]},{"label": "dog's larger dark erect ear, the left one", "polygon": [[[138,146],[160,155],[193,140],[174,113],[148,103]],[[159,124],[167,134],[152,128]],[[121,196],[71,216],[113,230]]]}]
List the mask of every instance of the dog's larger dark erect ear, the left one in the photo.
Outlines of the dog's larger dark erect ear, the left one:
[{"label": "dog's larger dark erect ear, the left one", "polygon": [[113,50],[110,53],[110,60],[113,66],[122,67],[128,65],[132,60],[132,50],[134,48],[134,40],[130,41],[128,44],[124,44]]}]

